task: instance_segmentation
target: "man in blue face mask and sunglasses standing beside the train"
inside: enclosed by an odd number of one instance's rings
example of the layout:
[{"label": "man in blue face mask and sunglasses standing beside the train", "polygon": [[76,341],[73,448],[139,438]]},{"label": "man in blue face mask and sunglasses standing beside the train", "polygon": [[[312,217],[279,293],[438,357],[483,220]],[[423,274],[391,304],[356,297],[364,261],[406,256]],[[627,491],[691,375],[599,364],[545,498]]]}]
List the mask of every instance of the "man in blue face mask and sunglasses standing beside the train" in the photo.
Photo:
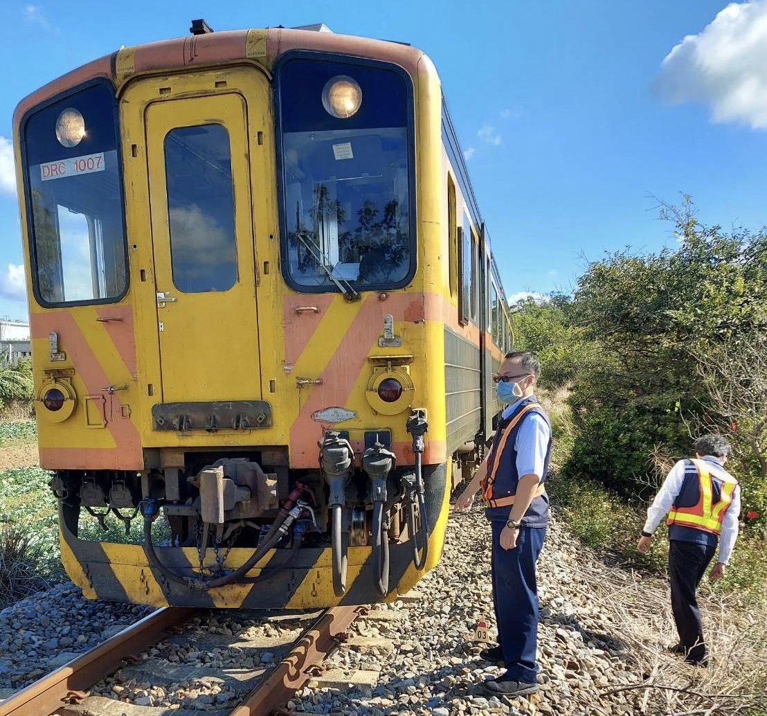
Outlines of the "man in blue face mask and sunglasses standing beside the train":
[{"label": "man in blue face mask and sunglasses standing beside the train", "polygon": [[486,681],[491,695],[538,691],[535,563],[548,524],[544,483],[551,459],[551,424],[534,394],[540,374],[535,354],[505,356],[494,378],[506,407],[487,460],[456,503],[456,510],[468,509],[481,485],[492,526],[492,596],[499,643],[483,651],[482,658],[504,662],[506,672]]}]

